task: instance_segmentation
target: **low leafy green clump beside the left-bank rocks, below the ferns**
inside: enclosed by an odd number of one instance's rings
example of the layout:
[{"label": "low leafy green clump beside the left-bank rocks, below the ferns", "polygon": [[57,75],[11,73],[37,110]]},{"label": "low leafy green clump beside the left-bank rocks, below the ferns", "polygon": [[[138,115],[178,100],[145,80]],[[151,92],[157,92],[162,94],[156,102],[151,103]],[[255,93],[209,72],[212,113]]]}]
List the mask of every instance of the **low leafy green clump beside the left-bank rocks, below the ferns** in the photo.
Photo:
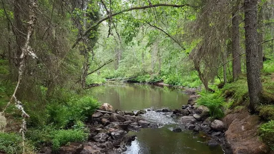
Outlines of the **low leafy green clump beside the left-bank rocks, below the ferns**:
[{"label": "low leafy green clump beside the left-bank rocks, below the ferns", "polygon": [[84,142],[87,137],[88,133],[81,129],[56,130],[53,132],[52,149],[58,151],[60,146],[71,142]]}]

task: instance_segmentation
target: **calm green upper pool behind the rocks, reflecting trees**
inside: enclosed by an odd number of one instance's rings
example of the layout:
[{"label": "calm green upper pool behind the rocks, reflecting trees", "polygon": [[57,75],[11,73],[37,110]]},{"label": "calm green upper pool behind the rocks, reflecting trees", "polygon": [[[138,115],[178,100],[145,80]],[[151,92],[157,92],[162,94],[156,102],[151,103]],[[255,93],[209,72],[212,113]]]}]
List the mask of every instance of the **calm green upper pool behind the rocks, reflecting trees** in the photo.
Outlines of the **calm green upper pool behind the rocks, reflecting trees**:
[{"label": "calm green upper pool behind the rocks, reflecting trees", "polygon": [[143,84],[118,84],[94,87],[92,95],[115,109],[138,110],[149,107],[181,108],[187,102],[187,95],[168,87]]}]

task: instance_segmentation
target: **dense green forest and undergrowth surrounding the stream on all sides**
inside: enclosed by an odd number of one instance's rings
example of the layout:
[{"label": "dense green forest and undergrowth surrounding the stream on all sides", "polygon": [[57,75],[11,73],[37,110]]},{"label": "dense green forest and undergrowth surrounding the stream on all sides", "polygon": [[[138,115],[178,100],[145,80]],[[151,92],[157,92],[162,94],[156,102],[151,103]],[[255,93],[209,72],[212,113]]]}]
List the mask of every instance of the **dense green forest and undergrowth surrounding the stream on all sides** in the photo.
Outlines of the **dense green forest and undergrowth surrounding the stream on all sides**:
[{"label": "dense green forest and undergrowth surrounding the stream on all sides", "polygon": [[89,89],[109,81],[194,89],[212,120],[258,115],[274,150],[273,0],[0,3],[1,154],[89,140]]}]

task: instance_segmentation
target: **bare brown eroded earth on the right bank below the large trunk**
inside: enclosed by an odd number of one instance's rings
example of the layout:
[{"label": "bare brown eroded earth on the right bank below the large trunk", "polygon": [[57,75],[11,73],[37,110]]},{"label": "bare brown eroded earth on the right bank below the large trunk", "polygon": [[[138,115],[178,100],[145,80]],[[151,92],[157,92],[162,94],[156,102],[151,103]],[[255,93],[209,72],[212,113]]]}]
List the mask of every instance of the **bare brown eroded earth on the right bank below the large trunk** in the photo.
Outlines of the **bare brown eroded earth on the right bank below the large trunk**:
[{"label": "bare brown eroded earth on the right bank below the large trunk", "polygon": [[270,154],[258,136],[257,130],[262,123],[258,115],[241,111],[226,115],[222,121],[226,124],[225,137],[233,154]]}]

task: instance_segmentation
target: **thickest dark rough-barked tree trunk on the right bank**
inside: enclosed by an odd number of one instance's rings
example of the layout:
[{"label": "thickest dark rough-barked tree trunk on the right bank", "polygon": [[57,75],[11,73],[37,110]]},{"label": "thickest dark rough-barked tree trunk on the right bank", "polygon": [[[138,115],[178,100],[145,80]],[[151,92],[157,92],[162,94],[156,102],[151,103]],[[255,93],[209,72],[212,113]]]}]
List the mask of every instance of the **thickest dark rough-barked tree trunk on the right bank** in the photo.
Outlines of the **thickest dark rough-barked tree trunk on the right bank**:
[{"label": "thickest dark rough-barked tree trunk on the right bank", "polygon": [[258,58],[257,0],[245,0],[246,67],[250,109],[255,110],[262,92]]}]

